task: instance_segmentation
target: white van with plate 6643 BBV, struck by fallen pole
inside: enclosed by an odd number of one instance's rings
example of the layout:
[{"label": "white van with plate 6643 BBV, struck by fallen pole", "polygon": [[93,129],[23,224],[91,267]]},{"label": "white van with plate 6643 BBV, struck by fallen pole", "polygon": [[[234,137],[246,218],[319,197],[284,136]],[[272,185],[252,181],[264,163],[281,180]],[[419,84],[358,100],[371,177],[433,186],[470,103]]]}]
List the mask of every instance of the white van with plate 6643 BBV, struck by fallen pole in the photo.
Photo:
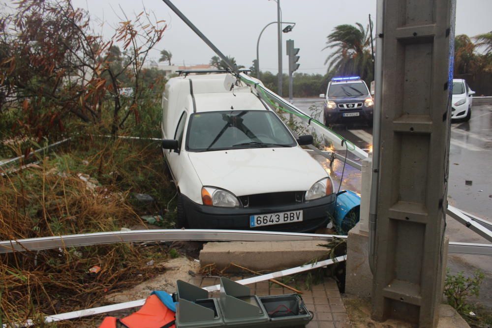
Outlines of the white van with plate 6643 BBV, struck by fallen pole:
[{"label": "white van with plate 6643 BBV, struck by fallen pole", "polygon": [[226,89],[231,77],[175,77],[162,95],[162,148],[178,190],[178,226],[326,226],[336,194],[327,172],[300,147],[312,136],[296,139],[254,88]]}]

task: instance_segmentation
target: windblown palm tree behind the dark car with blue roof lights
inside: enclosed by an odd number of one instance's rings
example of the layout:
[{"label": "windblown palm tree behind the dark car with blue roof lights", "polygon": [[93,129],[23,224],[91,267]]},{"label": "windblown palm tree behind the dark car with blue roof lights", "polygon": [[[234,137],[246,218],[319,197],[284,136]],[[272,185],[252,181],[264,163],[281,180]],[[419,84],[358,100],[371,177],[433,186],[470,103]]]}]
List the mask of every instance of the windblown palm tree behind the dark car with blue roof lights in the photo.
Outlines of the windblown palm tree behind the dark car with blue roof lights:
[{"label": "windblown palm tree behind the dark car with blue roof lights", "polygon": [[328,63],[327,73],[359,75],[366,82],[370,82],[374,74],[369,25],[366,29],[360,23],[355,25],[338,25],[327,36],[326,47],[323,50],[336,49],[335,53],[325,60],[325,64]]}]

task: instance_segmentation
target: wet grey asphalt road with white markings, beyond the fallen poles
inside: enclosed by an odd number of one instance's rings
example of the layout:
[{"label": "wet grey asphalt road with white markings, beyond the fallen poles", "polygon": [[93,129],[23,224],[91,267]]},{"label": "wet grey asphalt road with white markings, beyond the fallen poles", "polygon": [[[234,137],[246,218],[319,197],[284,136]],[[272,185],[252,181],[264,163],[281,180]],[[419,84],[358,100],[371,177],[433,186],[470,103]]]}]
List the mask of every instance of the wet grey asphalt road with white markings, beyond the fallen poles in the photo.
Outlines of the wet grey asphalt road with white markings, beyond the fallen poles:
[{"label": "wet grey asphalt road with white markings, beyond the fallen poles", "polygon": [[[492,99],[477,100],[473,102],[472,115],[468,122],[451,124],[448,203],[492,221]],[[313,104],[318,106],[319,111],[322,102],[317,99],[294,99],[294,104],[301,110],[309,112],[308,109]],[[333,130],[359,148],[369,149],[371,146],[372,128],[365,124],[335,125]],[[340,153],[344,154],[344,151]],[[338,188],[343,162],[335,160],[330,166],[326,158],[320,155],[313,155],[313,157],[325,167]],[[349,156],[349,158],[354,157]],[[360,192],[360,187],[360,171],[346,165],[341,189]],[[490,244],[449,216],[446,222],[446,235],[450,241]],[[476,300],[492,308],[490,256],[450,255],[448,268],[453,274],[464,271],[465,275],[471,275],[476,269],[484,271],[486,278],[481,286],[481,295]]]}]

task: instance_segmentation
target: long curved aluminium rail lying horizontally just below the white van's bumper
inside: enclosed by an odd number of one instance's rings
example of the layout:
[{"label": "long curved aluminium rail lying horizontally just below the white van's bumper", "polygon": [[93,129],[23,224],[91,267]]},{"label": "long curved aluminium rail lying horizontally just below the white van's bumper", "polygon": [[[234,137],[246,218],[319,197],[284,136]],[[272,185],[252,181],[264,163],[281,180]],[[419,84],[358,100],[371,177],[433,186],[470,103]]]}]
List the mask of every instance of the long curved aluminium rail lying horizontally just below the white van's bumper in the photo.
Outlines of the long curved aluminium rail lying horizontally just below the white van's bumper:
[{"label": "long curved aluminium rail lying horizontally just below the white van's bumper", "polygon": [[[118,242],[161,242],[174,240],[200,241],[328,241],[334,238],[347,239],[347,236],[320,235],[302,233],[283,233],[246,230],[212,230],[212,229],[160,229],[115,231],[92,234],[65,235],[31,239],[0,241],[0,254],[40,251],[53,248],[79,247],[89,245],[111,244]],[[492,255],[491,244],[450,242],[448,253]]]}]

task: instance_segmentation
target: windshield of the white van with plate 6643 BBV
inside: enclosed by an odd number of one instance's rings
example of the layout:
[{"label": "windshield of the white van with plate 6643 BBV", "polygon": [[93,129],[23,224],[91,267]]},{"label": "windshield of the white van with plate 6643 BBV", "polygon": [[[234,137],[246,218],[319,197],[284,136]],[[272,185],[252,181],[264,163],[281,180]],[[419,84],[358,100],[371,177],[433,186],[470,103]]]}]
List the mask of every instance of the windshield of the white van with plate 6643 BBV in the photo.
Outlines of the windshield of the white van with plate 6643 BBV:
[{"label": "windshield of the white van with plate 6643 BBV", "polygon": [[189,151],[294,146],[292,134],[270,111],[195,113],[186,135]]}]

